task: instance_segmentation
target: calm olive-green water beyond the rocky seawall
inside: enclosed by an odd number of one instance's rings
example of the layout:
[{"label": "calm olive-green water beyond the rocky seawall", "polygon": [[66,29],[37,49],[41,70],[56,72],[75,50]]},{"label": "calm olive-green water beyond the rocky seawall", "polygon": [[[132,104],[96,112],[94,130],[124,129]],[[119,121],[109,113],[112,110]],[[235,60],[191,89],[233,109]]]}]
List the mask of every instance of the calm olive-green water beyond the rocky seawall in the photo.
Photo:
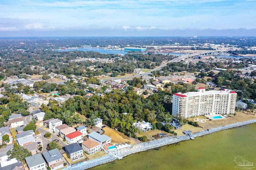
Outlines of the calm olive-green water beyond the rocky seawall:
[{"label": "calm olive-green water beyond the rocky seawall", "polygon": [[237,156],[256,166],[256,123],[132,154],[90,170],[238,170]]}]

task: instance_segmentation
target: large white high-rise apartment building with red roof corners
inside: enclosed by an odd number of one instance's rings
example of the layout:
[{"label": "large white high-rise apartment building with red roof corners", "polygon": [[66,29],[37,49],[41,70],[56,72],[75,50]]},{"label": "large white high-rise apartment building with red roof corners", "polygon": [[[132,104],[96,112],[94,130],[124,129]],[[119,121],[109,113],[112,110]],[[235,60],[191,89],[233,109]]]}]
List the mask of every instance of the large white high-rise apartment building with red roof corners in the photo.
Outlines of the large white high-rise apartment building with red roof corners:
[{"label": "large white high-rise apartment building with red roof corners", "polygon": [[197,92],[173,94],[172,115],[181,115],[183,118],[234,114],[236,107],[236,92],[233,90],[211,90],[198,88]]}]

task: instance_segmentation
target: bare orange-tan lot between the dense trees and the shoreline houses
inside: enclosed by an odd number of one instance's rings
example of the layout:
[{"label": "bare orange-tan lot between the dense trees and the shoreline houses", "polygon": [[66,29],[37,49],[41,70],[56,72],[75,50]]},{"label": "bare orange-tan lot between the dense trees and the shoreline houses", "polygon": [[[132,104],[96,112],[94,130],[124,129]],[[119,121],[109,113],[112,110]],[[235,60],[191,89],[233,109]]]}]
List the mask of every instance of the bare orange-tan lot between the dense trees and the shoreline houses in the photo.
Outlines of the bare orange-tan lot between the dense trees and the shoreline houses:
[{"label": "bare orange-tan lot between the dense trees and the shoreline houses", "polygon": [[114,129],[111,129],[110,127],[104,127],[105,135],[111,137],[111,143],[124,143],[124,142],[130,142],[131,145],[136,144],[136,141],[133,138],[130,138],[124,133],[118,132]]}]

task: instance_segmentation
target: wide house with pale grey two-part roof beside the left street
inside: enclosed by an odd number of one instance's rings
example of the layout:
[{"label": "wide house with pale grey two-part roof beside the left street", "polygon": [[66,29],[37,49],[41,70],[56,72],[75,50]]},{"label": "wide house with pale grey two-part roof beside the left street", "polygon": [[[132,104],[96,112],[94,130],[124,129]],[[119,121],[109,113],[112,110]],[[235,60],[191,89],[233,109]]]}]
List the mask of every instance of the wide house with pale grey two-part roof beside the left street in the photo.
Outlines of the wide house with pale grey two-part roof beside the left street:
[{"label": "wide house with pale grey two-part roof beside the left street", "polygon": [[24,131],[16,135],[17,143],[20,146],[29,145],[30,143],[36,142],[35,133],[33,130]]}]

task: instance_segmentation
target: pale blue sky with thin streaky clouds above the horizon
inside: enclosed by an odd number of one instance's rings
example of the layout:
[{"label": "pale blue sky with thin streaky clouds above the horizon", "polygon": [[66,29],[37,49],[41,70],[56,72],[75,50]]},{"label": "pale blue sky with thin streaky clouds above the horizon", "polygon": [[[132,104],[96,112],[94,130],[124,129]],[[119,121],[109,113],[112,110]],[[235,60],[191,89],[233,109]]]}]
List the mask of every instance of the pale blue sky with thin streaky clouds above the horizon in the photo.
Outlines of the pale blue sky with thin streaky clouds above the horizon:
[{"label": "pale blue sky with thin streaky clouds above the horizon", "polygon": [[0,0],[0,37],[256,36],[256,0]]}]

